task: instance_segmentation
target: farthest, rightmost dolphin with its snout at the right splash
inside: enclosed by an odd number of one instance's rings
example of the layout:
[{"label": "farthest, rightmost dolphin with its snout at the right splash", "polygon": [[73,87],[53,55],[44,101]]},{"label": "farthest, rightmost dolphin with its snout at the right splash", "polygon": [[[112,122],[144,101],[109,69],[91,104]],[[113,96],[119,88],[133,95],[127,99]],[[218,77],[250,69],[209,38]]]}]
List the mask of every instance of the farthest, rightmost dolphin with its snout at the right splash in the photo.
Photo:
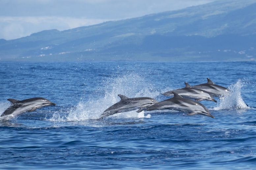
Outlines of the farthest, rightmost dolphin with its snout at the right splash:
[{"label": "farthest, rightmost dolphin with its snout at the right splash", "polygon": [[207,78],[207,83],[198,84],[198,85],[192,86],[192,88],[197,88],[197,89],[207,91],[213,94],[213,96],[222,96],[229,91],[227,88],[223,86],[214,84],[210,78]]}]

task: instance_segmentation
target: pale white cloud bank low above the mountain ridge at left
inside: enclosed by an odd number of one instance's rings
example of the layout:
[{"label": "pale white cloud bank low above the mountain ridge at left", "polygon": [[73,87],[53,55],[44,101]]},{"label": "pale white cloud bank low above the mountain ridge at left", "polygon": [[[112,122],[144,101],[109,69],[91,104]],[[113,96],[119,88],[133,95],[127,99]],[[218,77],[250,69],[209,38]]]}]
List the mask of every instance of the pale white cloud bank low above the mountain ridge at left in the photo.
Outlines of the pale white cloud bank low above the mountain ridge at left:
[{"label": "pale white cloud bank low above the mountain ridge at left", "polygon": [[94,25],[109,20],[111,19],[103,20],[56,16],[0,17],[0,38],[7,40],[16,39],[43,30],[57,29],[62,31],[81,26]]}]

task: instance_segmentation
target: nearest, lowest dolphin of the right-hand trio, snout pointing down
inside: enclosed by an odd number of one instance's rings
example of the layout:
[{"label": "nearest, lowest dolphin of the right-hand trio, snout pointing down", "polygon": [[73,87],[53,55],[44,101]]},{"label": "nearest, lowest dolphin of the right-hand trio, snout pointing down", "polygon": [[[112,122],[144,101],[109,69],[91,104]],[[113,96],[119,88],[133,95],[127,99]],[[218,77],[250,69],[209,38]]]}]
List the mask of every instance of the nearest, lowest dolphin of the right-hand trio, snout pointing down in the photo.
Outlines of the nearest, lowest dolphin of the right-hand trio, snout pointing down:
[{"label": "nearest, lowest dolphin of the right-hand trio, snout pointing down", "polygon": [[150,105],[149,107],[140,108],[137,112],[141,112],[143,110],[177,110],[184,112],[189,116],[199,114],[214,118],[203,104],[189,98],[183,98],[176,92],[172,93],[174,95],[173,98],[160,101],[156,104]]}]

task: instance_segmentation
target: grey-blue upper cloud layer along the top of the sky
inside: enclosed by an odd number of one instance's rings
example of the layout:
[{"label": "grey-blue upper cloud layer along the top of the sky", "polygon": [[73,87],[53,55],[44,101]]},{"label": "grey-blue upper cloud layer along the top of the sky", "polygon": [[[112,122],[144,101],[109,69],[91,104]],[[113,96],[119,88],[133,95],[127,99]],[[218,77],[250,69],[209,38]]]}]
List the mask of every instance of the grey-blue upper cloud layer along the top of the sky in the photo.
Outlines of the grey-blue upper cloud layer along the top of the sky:
[{"label": "grey-blue upper cloud layer along the top of the sky", "polygon": [[213,0],[1,0],[0,16],[66,16],[124,19],[172,11]]}]

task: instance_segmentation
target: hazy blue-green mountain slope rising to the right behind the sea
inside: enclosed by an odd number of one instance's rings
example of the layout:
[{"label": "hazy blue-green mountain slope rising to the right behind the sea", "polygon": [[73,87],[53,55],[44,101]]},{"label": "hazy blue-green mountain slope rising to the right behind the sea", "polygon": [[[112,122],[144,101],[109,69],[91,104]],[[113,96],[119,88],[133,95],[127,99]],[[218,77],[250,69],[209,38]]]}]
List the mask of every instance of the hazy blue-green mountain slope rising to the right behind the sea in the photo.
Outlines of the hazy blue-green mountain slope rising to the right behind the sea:
[{"label": "hazy blue-green mountain slope rising to the right behind the sea", "polygon": [[256,0],[46,30],[0,40],[0,61],[248,61],[256,56]]}]

